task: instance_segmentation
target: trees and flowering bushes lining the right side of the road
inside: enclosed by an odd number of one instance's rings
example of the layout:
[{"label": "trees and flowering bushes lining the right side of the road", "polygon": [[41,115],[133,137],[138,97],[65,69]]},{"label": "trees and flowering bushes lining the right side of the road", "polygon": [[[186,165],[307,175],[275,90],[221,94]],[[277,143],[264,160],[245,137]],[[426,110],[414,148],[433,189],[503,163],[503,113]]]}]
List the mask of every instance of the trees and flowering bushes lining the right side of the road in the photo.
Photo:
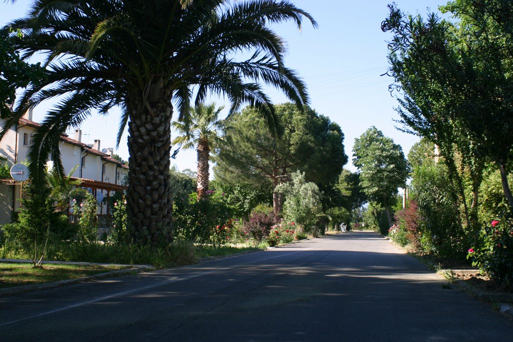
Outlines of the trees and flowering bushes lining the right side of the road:
[{"label": "trees and flowering bushes lining the right side of the road", "polygon": [[392,33],[390,89],[403,129],[422,137],[408,156],[409,200],[389,236],[440,260],[466,261],[511,290],[513,7],[451,1],[441,7],[447,19],[389,10],[382,28]]}]

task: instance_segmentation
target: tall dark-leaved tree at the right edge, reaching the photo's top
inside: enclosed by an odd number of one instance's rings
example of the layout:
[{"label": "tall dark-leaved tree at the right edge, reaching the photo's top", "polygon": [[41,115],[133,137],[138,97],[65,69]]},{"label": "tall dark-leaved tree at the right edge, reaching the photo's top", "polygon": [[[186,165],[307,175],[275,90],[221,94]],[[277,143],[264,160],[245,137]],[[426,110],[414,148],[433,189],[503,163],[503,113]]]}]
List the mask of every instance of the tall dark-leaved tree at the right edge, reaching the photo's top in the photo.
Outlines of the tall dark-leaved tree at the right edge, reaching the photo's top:
[{"label": "tall dark-leaved tree at the right edge, reaching the photo's top", "polygon": [[453,176],[451,149],[457,147],[472,179],[474,211],[488,158],[501,171],[504,196],[513,206],[506,177],[513,148],[507,133],[513,127],[512,8],[503,0],[452,1],[442,7],[453,14],[448,21],[434,13],[412,17],[390,5],[382,26],[393,33],[390,74],[404,94],[403,123],[440,146]]}]

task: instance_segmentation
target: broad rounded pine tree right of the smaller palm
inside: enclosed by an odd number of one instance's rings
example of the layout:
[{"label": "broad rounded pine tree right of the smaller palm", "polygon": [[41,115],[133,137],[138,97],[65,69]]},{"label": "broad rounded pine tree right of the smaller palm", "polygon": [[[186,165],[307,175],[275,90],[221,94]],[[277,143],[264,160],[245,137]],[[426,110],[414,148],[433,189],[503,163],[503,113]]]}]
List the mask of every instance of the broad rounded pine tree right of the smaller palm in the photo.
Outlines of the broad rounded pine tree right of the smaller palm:
[{"label": "broad rounded pine tree right of the smaller palm", "polygon": [[285,132],[281,138],[266,129],[264,120],[251,107],[233,115],[232,144],[215,155],[214,175],[223,183],[272,183],[273,209],[278,214],[283,195],[275,187],[292,172],[305,172],[307,182],[336,182],[347,162],[344,134],[339,125],[310,108],[292,104],[276,107]]}]

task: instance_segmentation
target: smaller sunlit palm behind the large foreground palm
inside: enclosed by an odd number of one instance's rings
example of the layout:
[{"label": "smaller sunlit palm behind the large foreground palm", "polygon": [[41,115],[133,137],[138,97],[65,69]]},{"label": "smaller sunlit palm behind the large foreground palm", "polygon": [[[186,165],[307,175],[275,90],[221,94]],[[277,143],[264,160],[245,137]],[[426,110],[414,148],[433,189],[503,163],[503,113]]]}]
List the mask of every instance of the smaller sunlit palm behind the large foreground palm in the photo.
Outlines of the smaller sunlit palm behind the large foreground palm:
[{"label": "smaller sunlit palm behind the large foreground palm", "polygon": [[198,153],[198,200],[205,197],[209,182],[210,151],[221,147],[228,142],[226,134],[232,129],[229,118],[219,119],[224,106],[215,109],[215,103],[200,104],[191,109],[189,120],[186,123],[173,122],[173,127],[182,134],[174,138],[172,144],[183,149],[192,149],[196,146]]}]

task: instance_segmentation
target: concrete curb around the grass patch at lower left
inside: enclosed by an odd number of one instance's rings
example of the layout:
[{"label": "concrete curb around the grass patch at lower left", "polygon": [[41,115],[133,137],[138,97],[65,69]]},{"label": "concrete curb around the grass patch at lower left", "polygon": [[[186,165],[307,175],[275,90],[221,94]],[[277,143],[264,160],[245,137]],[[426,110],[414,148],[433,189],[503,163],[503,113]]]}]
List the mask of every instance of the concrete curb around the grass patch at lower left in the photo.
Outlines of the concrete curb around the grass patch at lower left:
[{"label": "concrete curb around the grass patch at lower left", "polygon": [[[10,263],[10,264],[29,263],[30,264],[30,263],[32,263],[32,261],[31,260],[20,260],[20,259],[0,259],[0,263]],[[151,265],[99,264],[99,263],[83,263],[83,262],[72,262],[72,261],[43,261],[43,264],[127,266],[127,267],[131,267],[131,268],[128,268],[125,270],[115,270],[115,271],[109,271],[109,272],[105,272],[105,273],[98,273],[98,274],[89,275],[87,277],[82,277],[82,278],[53,281],[52,283],[32,284],[32,285],[16,286],[16,287],[11,287],[11,288],[6,288],[6,289],[0,289],[0,296],[25,293],[25,292],[43,290],[43,289],[51,289],[51,288],[56,288],[58,286],[67,285],[67,284],[82,283],[84,281],[90,281],[90,280],[94,280],[94,279],[109,278],[109,277],[114,277],[114,276],[119,276],[119,275],[135,274],[135,273],[141,273],[144,271],[153,271],[156,269],[154,266],[151,266]]]}]

